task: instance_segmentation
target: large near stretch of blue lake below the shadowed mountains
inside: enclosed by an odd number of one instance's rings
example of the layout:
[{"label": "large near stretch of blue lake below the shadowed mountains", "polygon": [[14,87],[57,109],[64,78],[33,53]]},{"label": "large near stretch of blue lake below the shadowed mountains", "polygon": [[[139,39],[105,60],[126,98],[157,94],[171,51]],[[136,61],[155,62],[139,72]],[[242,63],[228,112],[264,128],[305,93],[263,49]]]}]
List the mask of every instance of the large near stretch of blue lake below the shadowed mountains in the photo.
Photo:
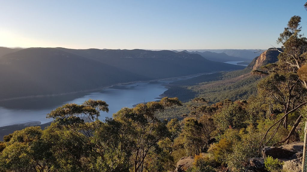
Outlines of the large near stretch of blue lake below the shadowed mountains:
[{"label": "large near stretch of blue lake below the shadowed mountains", "polygon": [[46,119],[46,114],[57,107],[66,103],[82,104],[88,99],[99,99],[107,102],[109,113],[101,112],[99,118],[104,120],[106,117],[112,117],[112,114],[122,107],[131,108],[138,103],[158,100],[159,95],[167,90],[163,84],[168,84],[175,80],[189,79],[202,74],[151,82],[118,84],[95,92],[0,101],[0,127],[32,121],[40,121],[44,124],[52,121],[51,119]]}]

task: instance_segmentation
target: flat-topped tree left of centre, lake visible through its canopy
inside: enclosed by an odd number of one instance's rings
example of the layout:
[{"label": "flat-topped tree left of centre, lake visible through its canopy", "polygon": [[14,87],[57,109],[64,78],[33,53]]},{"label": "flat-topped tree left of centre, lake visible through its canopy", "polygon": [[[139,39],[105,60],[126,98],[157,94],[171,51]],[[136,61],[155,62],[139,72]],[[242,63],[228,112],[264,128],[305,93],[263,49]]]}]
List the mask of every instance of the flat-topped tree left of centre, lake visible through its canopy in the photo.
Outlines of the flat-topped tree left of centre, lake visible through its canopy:
[{"label": "flat-topped tree left of centre, lake visible through its canopy", "polygon": [[[47,114],[47,118],[55,119],[43,135],[56,156],[53,168],[62,171],[95,170],[97,164],[101,165],[100,160],[107,166],[104,157],[111,155],[106,153],[107,150],[101,150],[104,147],[94,137],[101,127],[98,120],[100,111],[109,111],[107,103],[89,99],[82,105],[65,104]],[[106,166],[105,169],[109,170]]]}]

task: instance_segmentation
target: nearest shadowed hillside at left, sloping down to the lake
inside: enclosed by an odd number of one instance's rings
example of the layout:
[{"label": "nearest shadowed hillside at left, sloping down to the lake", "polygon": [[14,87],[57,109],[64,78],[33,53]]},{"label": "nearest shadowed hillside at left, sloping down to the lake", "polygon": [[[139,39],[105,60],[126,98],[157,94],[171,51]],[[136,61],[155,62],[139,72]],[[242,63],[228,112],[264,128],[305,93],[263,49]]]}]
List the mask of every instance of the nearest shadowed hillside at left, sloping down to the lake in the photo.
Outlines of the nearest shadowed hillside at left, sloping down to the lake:
[{"label": "nearest shadowed hillside at left, sloping down to the lake", "polygon": [[51,48],[31,48],[2,56],[0,78],[1,99],[78,92],[149,79]]}]

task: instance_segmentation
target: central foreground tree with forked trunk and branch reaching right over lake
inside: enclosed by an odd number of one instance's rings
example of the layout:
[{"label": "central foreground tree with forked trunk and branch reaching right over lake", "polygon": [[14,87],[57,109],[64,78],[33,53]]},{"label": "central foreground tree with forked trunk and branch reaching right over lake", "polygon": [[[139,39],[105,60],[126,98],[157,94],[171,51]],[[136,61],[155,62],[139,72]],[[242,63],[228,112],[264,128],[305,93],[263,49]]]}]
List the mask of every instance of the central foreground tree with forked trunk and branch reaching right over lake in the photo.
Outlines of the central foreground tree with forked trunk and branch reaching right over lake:
[{"label": "central foreground tree with forked trunk and branch reaching right over lake", "polygon": [[166,127],[166,121],[160,121],[156,114],[164,110],[165,106],[181,105],[178,99],[171,100],[164,98],[160,102],[138,104],[134,108],[122,108],[113,115],[115,122],[120,123],[119,140],[121,140],[121,146],[127,150],[132,165],[131,171],[144,171],[146,164],[153,160],[146,157],[153,157],[161,151],[158,142],[169,135],[169,130]]}]

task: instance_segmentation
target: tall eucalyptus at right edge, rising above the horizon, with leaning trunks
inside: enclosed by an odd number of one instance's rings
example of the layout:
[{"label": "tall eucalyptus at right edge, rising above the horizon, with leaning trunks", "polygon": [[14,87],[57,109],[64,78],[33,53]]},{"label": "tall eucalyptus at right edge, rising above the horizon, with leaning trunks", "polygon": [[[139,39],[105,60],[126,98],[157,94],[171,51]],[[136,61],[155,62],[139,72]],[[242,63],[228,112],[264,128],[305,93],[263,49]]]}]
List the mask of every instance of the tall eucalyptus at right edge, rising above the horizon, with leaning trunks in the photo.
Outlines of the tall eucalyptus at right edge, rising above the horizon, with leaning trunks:
[{"label": "tall eucalyptus at right edge, rising above the horizon, with leaning trunks", "polygon": [[[307,104],[307,101],[304,99],[304,94],[306,92],[305,89],[307,89],[306,80],[304,77],[299,77],[299,75],[297,75],[299,71],[301,71],[301,73],[304,74],[304,70],[302,70],[301,68],[306,65],[306,60],[307,60],[307,39],[300,33],[301,32],[300,22],[301,22],[300,16],[291,17],[290,21],[288,22],[287,27],[284,29],[284,32],[280,34],[277,40],[277,43],[282,44],[282,47],[281,47],[282,50],[278,50],[277,48],[274,49],[274,50],[281,52],[278,56],[278,60],[279,60],[278,68],[289,73],[289,74],[285,74],[284,72],[281,74],[286,76],[285,79],[287,79],[287,75],[288,75],[288,79],[290,79],[291,81],[288,85],[286,85],[287,83],[284,83],[285,85],[283,85],[284,88],[286,87],[288,88],[278,89],[278,90],[275,89],[275,90],[278,92],[281,92],[282,90],[288,92],[287,97],[285,96],[285,98],[282,98],[282,97],[280,98],[285,99],[286,104],[289,104],[290,106],[284,106],[285,114],[282,116],[282,118],[277,120],[277,122],[271,125],[269,129],[266,131],[265,135],[263,136],[260,142],[261,147],[264,146],[268,142],[267,141],[266,143],[263,144],[263,142],[266,140],[266,137],[268,136],[268,133],[270,133],[272,129],[273,129],[272,131],[273,134],[271,134],[268,140],[274,137],[282,121],[284,121],[284,124],[286,124],[287,116],[290,113],[296,111],[300,107]],[[279,84],[279,83],[276,83],[280,81],[278,79],[279,76],[280,75],[277,74],[275,75],[275,78],[274,77],[272,78],[273,80],[271,81],[275,82],[272,84]],[[303,87],[305,87],[305,89],[299,88],[300,84],[302,84]],[[303,91],[303,94],[301,94],[298,90]],[[275,100],[280,101],[281,100],[280,98],[276,97]],[[292,100],[289,101],[289,99],[292,99]],[[281,103],[285,104],[283,102]],[[300,114],[297,120],[294,122],[289,135],[278,143],[284,143],[289,140],[289,138],[295,132],[297,125],[301,122],[302,118],[303,118],[302,114]]]}]

